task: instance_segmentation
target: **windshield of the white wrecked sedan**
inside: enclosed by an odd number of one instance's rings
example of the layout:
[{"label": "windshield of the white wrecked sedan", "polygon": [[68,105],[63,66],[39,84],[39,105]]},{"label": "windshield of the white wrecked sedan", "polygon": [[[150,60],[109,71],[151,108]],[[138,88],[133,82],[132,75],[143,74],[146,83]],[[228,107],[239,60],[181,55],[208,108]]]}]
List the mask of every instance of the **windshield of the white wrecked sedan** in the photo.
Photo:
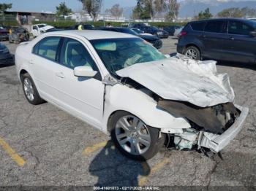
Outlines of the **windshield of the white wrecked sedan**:
[{"label": "windshield of the white wrecked sedan", "polygon": [[97,39],[91,40],[91,44],[110,74],[114,75],[116,75],[116,71],[136,63],[159,61],[166,58],[151,44],[138,38]]}]

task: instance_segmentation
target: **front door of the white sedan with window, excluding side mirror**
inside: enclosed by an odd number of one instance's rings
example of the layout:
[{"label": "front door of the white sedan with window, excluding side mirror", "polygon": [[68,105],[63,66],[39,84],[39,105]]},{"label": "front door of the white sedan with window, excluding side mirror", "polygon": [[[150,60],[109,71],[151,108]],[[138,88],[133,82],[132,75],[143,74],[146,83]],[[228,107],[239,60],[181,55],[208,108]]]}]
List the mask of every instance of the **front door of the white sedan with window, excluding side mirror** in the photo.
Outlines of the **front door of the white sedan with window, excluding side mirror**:
[{"label": "front door of the white sedan with window, excluding side mirror", "polygon": [[[105,85],[97,64],[78,39],[65,38],[59,57],[59,71],[56,71],[56,89],[61,104],[86,122],[101,128]],[[77,66],[89,66],[98,71],[95,77],[75,77]]]}]

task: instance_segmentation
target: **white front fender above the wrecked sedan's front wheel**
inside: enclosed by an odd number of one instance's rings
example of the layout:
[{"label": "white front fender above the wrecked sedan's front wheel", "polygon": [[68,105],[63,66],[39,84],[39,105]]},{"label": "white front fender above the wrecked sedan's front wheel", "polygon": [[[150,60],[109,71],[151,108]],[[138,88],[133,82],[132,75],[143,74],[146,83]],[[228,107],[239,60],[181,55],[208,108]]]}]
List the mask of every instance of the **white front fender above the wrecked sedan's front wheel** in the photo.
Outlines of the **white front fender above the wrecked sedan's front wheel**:
[{"label": "white front fender above the wrecked sedan's front wheel", "polygon": [[141,90],[135,90],[126,85],[107,86],[105,95],[105,111],[103,124],[106,125],[113,112],[127,111],[143,120],[154,128],[173,129],[177,132],[190,128],[189,122],[184,118],[176,118],[157,108],[157,102]]}]

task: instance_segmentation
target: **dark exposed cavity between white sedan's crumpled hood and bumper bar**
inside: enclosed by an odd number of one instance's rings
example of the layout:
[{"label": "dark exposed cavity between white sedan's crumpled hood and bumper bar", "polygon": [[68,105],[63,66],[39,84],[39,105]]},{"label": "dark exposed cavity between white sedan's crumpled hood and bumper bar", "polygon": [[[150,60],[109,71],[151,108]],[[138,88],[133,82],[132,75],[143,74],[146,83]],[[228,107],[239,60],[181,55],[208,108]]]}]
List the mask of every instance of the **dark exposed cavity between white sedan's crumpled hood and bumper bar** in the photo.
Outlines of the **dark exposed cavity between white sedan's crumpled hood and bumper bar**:
[{"label": "dark exposed cavity between white sedan's crumpled hood and bumper bar", "polygon": [[184,117],[211,133],[223,133],[233,123],[239,112],[232,103],[211,107],[199,107],[181,101],[158,101],[157,106],[175,117]]}]

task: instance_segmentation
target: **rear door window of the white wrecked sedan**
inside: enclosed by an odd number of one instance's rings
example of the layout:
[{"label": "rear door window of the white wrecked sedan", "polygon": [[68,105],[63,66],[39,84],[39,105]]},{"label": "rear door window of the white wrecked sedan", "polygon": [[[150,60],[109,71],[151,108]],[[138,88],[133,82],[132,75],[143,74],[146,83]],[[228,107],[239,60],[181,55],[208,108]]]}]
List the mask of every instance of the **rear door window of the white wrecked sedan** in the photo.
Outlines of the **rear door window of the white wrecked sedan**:
[{"label": "rear door window of the white wrecked sedan", "polygon": [[48,58],[51,61],[56,61],[56,54],[61,37],[46,37],[39,41],[33,49],[33,53]]}]

